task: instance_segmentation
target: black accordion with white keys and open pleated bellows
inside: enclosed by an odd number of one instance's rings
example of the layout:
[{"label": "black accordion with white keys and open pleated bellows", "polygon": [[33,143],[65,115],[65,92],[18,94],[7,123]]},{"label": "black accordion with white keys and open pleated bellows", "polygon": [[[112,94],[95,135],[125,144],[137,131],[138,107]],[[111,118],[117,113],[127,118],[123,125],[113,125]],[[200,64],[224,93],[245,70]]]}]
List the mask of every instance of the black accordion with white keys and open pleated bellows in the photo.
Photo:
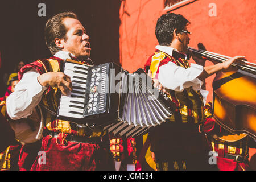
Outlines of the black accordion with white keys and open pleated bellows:
[{"label": "black accordion with white keys and open pleated bellows", "polygon": [[137,137],[173,113],[173,103],[152,86],[143,69],[128,73],[114,63],[90,66],[67,59],[63,72],[71,77],[73,90],[68,96],[61,94],[59,119]]}]

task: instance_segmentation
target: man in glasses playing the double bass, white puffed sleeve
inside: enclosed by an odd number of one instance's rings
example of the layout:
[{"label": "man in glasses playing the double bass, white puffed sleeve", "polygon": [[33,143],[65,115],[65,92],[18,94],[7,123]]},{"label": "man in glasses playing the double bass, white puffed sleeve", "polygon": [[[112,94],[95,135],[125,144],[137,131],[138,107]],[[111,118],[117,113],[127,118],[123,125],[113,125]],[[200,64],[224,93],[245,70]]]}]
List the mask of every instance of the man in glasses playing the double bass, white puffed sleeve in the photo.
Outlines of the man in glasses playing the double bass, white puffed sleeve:
[{"label": "man in glasses playing the double bass, white puffed sleeve", "polygon": [[[199,132],[204,121],[204,105],[208,92],[202,89],[205,78],[229,69],[245,56],[233,57],[224,63],[205,67],[205,60],[195,59],[189,65],[187,48],[189,21],[182,15],[167,13],[156,24],[159,45],[145,64],[145,71],[155,80],[155,86],[165,89],[176,105],[170,121],[156,127],[149,135],[152,158],[158,170],[207,170],[209,148],[204,134]],[[162,88],[163,87],[163,88]]]}]

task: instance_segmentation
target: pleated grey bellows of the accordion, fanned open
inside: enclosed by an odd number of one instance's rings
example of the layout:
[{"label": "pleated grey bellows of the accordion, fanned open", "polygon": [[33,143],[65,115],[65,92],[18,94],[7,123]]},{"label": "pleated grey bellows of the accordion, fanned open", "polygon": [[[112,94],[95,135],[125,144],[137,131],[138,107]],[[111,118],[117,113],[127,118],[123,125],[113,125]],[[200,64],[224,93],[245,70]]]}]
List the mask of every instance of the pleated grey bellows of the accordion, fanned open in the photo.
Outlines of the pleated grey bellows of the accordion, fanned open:
[{"label": "pleated grey bellows of the accordion, fanned open", "polygon": [[170,107],[163,102],[169,99],[152,87],[152,80],[143,69],[124,73],[122,80],[121,121],[106,127],[109,132],[137,137],[171,117]]}]

